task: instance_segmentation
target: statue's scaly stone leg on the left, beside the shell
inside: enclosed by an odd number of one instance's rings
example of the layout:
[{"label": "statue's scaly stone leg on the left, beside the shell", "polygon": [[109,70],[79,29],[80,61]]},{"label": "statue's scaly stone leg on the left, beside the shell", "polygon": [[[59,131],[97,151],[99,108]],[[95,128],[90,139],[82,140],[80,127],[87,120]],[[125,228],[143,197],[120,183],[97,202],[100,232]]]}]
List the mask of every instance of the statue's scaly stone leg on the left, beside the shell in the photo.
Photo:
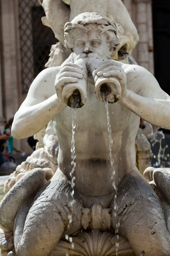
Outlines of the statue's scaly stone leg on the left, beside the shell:
[{"label": "statue's scaly stone leg on the left, beside the shell", "polygon": [[63,175],[47,183],[31,207],[25,204],[19,209],[14,225],[17,256],[49,256],[61,237],[80,230],[82,204],[76,192],[74,195],[76,202],[71,212],[71,186]]}]

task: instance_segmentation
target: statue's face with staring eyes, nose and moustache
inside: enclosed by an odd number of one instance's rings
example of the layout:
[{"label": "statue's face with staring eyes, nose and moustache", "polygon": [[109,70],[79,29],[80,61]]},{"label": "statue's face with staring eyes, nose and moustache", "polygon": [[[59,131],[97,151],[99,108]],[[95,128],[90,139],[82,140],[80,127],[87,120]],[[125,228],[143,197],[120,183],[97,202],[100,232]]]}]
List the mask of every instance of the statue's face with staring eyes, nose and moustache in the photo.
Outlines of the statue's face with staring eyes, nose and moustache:
[{"label": "statue's face with staring eyes, nose and moustache", "polygon": [[83,53],[95,53],[100,57],[109,55],[110,43],[108,43],[105,33],[100,35],[100,30],[90,30],[88,33],[81,31],[81,33],[74,34],[74,46],[73,51],[76,55]]}]

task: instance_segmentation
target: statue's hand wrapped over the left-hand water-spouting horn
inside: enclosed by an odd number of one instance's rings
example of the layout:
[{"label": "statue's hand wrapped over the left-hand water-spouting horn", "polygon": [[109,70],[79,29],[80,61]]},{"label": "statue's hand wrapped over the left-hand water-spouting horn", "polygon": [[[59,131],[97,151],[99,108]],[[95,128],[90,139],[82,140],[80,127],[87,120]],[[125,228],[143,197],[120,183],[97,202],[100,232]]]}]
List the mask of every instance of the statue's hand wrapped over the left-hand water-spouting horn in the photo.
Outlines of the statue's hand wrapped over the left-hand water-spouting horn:
[{"label": "statue's hand wrapped over the left-hand water-spouting horn", "polygon": [[55,79],[55,90],[57,93],[57,97],[60,102],[64,103],[62,99],[62,90],[66,84],[77,83],[78,79],[82,79],[84,75],[84,71],[82,66],[68,62],[65,63],[64,66],[61,68],[59,73]]}]

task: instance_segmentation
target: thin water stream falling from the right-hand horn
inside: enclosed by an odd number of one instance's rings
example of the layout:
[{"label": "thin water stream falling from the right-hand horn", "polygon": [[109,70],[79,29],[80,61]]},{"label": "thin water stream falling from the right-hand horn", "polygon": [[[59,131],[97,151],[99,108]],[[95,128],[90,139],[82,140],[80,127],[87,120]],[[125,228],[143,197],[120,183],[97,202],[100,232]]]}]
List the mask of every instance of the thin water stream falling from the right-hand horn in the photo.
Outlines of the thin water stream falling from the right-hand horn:
[{"label": "thin water stream falling from the right-hand horn", "polygon": [[109,155],[110,155],[110,160],[111,160],[111,167],[112,167],[112,185],[113,188],[115,189],[115,196],[114,196],[114,209],[113,209],[113,215],[116,219],[116,229],[115,229],[115,234],[116,234],[116,256],[118,256],[118,250],[119,250],[119,219],[117,218],[117,211],[118,211],[118,204],[117,204],[117,187],[116,187],[116,183],[115,183],[115,169],[114,169],[114,160],[112,157],[112,146],[113,146],[113,140],[111,137],[112,134],[112,130],[111,130],[111,122],[110,122],[110,115],[109,115],[109,110],[108,110],[108,99],[107,96],[103,95],[103,100],[105,102],[105,108],[106,108],[106,113],[107,113],[107,120],[108,120],[108,133],[109,133]]}]

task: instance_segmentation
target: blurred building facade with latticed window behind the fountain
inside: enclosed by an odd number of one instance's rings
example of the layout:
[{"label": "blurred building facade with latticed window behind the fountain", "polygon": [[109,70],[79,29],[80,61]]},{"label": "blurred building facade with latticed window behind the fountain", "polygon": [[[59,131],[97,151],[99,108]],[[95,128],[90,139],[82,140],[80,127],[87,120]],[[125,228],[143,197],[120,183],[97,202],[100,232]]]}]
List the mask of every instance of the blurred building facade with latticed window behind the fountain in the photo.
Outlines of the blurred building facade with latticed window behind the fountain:
[{"label": "blurred building facade with latticed window behind the fountain", "polygon": [[[170,54],[170,1],[122,1],[139,33],[133,57],[151,73],[155,70],[162,89],[170,93],[164,67]],[[31,82],[48,61],[51,45],[57,41],[52,30],[42,25],[42,16],[44,11],[37,0],[0,1],[0,128],[26,98]],[[29,151],[26,140],[17,143]]]}]

